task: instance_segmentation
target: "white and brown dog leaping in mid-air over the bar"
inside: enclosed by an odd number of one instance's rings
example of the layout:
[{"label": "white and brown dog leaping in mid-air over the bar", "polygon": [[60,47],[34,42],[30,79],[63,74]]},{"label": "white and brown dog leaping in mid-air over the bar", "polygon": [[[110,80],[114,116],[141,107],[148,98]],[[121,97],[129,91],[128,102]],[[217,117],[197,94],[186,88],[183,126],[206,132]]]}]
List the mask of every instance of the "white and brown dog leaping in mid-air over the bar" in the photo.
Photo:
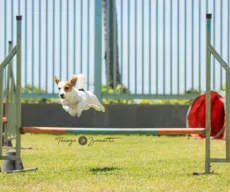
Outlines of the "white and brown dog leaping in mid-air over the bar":
[{"label": "white and brown dog leaping in mid-air over the bar", "polygon": [[[89,108],[105,112],[105,108],[98,98],[92,92],[84,90],[83,74],[74,75],[69,81],[60,81],[56,76],[54,80],[59,89],[62,107],[71,116],[80,117],[82,111]],[[77,81],[79,82],[78,89],[75,87]]]}]

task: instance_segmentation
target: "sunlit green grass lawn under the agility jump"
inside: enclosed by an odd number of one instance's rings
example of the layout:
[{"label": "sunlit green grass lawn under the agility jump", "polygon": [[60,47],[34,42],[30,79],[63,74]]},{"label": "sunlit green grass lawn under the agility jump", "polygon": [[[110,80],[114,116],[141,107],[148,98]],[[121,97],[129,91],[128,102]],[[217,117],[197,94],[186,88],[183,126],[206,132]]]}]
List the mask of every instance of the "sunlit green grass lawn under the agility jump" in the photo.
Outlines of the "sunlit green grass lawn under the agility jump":
[{"label": "sunlit green grass lawn under the agility jump", "polygon": [[[59,143],[57,137],[23,135],[23,147],[33,148],[22,151],[23,164],[38,170],[0,174],[0,191],[230,191],[229,164],[213,164],[212,175],[192,175],[204,170],[204,141],[115,136],[82,146],[77,135],[62,136]],[[212,149],[212,157],[224,157],[225,142],[212,141]]]}]

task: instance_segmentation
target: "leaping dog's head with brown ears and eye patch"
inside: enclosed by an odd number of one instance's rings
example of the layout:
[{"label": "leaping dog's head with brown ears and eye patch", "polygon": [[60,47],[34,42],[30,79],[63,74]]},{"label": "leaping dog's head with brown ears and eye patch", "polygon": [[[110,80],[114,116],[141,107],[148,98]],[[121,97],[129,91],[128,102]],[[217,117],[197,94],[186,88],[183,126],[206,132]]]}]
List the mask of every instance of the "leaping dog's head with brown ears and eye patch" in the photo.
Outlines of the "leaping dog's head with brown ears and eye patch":
[{"label": "leaping dog's head with brown ears and eye patch", "polygon": [[73,76],[69,81],[60,81],[56,76],[54,76],[54,80],[58,86],[59,97],[65,99],[69,95],[71,95],[73,87],[77,83],[77,77]]}]

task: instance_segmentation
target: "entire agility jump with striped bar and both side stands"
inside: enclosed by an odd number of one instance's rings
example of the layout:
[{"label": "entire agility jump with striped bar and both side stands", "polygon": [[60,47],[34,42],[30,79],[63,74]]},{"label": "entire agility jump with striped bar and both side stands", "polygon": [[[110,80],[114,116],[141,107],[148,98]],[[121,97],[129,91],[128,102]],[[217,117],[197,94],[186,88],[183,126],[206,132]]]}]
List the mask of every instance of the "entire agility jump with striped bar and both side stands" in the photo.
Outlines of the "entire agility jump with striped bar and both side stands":
[{"label": "entire agility jump with striped bar and both side stands", "polygon": [[[11,59],[17,54],[16,59],[16,82],[7,87],[6,105],[7,112],[3,121],[7,122],[7,129],[3,132],[3,123],[0,123],[0,143],[2,136],[4,139],[15,139],[15,151],[7,152],[3,155],[3,146],[0,145],[0,160],[4,160],[2,172],[25,172],[33,171],[37,168],[24,169],[21,159],[21,134],[23,133],[42,133],[42,134],[145,134],[145,135],[186,135],[199,134],[205,136],[205,171],[198,174],[213,173],[210,170],[211,162],[230,162],[230,98],[226,98],[226,158],[211,158],[210,157],[210,80],[211,80],[211,54],[219,61],[221,66],[226,70],[226,95],[230,95],[230,68],[226,62],[219,56],[215,49],[210,44],[211,37],[211,14],[206,14],[206,114],[205,127],[195,128],[63,128],[63,127],[22,127],[21,126],[21,20],[22,16],[16,16],[17,20],[17,45],[9,52],[8,56],[0,64],[0,119],[3,119],[3,70],[8,67],[12,68]],[[13,70],[11,70],[13,71]],[[8,73],[8,78],[11,73]],[[13,86],[15,85],[15,86]],[[10,166],[4,166],[10,164]]]}]

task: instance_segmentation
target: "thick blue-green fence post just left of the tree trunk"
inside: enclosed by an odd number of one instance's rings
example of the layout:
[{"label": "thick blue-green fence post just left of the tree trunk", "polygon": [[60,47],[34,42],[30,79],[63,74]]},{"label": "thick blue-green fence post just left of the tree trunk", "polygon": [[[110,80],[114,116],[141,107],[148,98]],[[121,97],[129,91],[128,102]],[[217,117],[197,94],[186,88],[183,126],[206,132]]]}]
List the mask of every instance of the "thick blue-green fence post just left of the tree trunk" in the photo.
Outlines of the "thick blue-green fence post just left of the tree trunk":
[{"label": "thick blue-green fence post just left of the tree trunk", "polygon": [[94,92],[101,101],[101,63],[102,63],[102,1],[95,0],[95,40],[94,40]]}]

